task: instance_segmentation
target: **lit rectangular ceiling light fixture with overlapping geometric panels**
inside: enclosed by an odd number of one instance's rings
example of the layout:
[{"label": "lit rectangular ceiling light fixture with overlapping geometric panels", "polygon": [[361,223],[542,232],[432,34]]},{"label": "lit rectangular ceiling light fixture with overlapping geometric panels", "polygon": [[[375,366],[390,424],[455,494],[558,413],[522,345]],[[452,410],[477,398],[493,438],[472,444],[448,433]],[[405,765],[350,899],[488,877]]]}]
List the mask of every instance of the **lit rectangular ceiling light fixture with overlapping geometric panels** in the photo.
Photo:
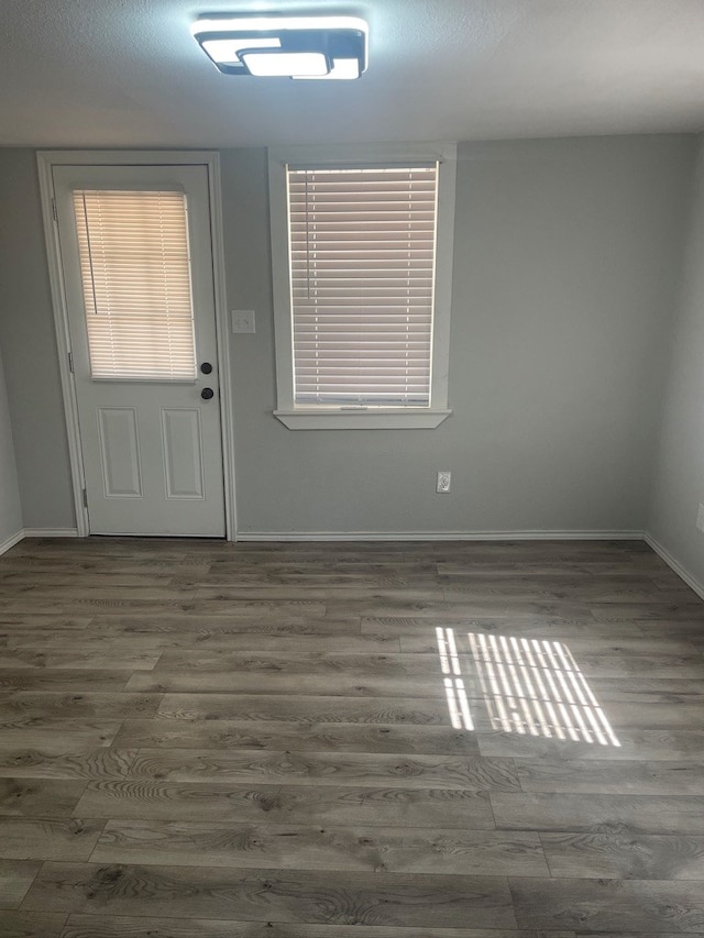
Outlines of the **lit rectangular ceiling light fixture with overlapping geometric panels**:
[{"label": "lit rectangular ceiling light fixture with overlapping geometric panels", "polygon": [[359,78],[369,29],[356,16],[209,15],[190,29],[224,75]]}]

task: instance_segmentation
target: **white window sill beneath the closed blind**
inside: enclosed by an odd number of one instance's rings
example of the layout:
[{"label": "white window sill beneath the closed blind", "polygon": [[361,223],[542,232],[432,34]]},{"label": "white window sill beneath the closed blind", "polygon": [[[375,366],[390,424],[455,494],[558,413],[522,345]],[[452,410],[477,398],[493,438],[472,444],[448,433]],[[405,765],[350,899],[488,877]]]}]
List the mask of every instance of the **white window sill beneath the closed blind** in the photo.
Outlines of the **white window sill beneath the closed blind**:
[{"label": "white window sill beneath the closed blind", "polygon": [[374,408],[373,410],[275,410],[274,417],[289,430],[433,430],[452,413],[427,408]]}]

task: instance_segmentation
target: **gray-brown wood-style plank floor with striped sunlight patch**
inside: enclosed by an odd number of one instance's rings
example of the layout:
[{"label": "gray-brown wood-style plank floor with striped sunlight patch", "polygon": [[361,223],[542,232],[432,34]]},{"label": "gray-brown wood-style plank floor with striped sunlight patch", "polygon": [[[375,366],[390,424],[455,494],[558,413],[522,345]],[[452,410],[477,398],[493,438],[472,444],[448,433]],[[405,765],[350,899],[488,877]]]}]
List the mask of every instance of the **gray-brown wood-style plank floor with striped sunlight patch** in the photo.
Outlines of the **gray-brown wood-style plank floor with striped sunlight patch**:
[{"label": "gray-brown wood-style plank floor with striped sunlight patch", "polygon": [[0,559],[0,936],[704,935],[704,604],[642,543]]}]

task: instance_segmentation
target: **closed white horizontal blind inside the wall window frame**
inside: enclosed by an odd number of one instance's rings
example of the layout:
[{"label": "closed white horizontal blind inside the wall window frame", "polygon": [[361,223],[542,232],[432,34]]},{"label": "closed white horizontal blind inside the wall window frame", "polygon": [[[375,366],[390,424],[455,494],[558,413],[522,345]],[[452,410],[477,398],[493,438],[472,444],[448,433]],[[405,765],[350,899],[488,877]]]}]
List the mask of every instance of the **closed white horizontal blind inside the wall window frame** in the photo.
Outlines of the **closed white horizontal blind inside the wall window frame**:
[{"label": "closed white horizontal blind inside the wall window frame", "polygon": [[296,404],[429,406],[437,179],[288,167]]}]

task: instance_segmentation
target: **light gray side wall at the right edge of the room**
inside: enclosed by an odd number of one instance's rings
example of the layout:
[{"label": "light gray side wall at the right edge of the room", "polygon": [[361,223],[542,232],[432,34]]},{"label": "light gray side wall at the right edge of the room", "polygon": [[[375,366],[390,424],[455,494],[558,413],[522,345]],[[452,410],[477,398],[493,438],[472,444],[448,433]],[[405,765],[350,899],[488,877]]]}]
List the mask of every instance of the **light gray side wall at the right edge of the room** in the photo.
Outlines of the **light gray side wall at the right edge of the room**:
[{"label": "light gray side wall at the right edge of the room", "polygon": [[692,224],[674,322],[670,374],[656,459],[649,531],[704,584],[704,139],[700,139]]}]

